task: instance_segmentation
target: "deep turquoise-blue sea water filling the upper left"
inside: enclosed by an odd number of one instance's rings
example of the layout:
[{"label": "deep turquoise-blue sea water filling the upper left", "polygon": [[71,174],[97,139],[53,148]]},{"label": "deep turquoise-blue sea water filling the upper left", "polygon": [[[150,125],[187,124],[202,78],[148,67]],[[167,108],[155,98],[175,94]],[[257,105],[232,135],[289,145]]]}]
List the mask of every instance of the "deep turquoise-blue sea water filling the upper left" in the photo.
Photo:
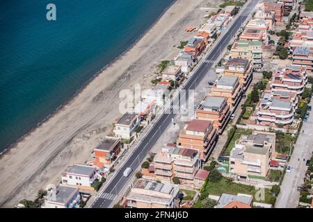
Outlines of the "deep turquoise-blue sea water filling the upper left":
[{"label": "deep turquoise-blue sea water filling the upper left", "polygon": [[[0,1],[0,151],[134,44],[173,1]],[[48,3],[56,21],[46,19]]]}]

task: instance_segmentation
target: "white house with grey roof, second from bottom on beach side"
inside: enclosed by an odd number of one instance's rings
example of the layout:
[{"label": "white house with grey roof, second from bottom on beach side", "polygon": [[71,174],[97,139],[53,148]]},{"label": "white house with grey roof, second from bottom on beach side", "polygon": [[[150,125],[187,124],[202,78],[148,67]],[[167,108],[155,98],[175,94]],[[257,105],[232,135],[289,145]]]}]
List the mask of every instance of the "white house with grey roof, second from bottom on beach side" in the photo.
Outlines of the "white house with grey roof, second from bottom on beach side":
[{"label": "white house with grey roof, second from bottom on beach side", "polygon": [[74,164],[61,176],[63,185],[79,188],[91,187],[95,180],[97,180],[97,168],[83,164]]}]

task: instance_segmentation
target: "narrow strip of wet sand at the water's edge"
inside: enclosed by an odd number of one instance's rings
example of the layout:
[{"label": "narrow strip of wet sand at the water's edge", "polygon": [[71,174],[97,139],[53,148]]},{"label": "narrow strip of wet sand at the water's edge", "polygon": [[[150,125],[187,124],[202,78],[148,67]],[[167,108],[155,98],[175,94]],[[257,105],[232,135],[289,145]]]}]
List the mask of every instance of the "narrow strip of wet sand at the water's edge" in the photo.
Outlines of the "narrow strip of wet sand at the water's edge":
[{"label": "narrow strip of wet sand at the water's edge", "polygon": [[157,19],[145,30],[145,32],[141,33],[141,35],[138,36],[138,38],[132,43],[130,44],[127,49],[125,49],[125,51],[123,51],[122,53],[120,53],[119,56],[113,58],[113,60],[111,60],[111,62],[109,62],[107,65],[105,65],[104,67],[102,67],[101,69],[99,69],[99,71],[97,71],[95,74],[93,74],[93,76],[91,76],[90,78],[88,78],[88,80],[86,80],[85,83],[83,83],[83,85],[81,85],[81,87],[79,87],[79,89],[77,89],[74,94],[72,96],[70,96],[69,99],[65,100],[61,105],[58,105],[58,107],[50,112],[47,117],[45,117],[44,119],[42,119],[41,121],[39,121],[38,123],[35,124],[35,126],[33,126],[31,128],[31,130],[29,130],[27,133],[25,133],[24,135],[22,135],[21,137],[19,137],[18,139],[15,140],[15,142],[13,142],[12,144],[8,145],[8,146],[4,146],[3,147],[3,151],[0,152],[0,160],[1,157],[3,157],[3,155],[6,155],[6,153],[10,152],[11,148],[16,148],[16,146],[19,144],[19,142],[22,142],[23,139],[25,139],[28,135],[30,135],[31,133],[34,133],[35,130],[37,130],[38,128],[40,128],[40,126],[42,126],[43,123],[49,121],[49,119],[51,117],[54,117],[56,114],[58,114],[58,112],[61,112],[66,105],[70,104],[72,101],[74,101],[74,99],[77,98],[77,96],[79,96],[79,94],[81,94],[83,92],[84,89],[86,89],[86,87],[88,87],[88,85],[90,85],[90,83],[93,82],[93,80],[95,80],[95,78],[97,78],[97,76],[99,76],[100,74],[102,74],[102,72],[105,71],[105,69],[107,69],[108,67],[110,67],[111,65],[113,65],[113,63],[117,62],[118,60],[120,60],[120,58],[122,58],[123,56],[125,56],[125,54],[127,52],[129,52],[132,48],[134,48],[134,46],[136,46],[136,44],[150,31],[151,28],[153,28],[153,26],[155,24],[157,24],[157,22],[159,22],[159,20],[161,19],[161,17],[168,11],[169,8],[171,8],[175,2],[177,2],[178,0],[173,0],[172,3],[170,3],[170,5],[168,5],[168,7],[166,7],[163,12],[161,12],[161,14],[159,15],[159,17],[157,17]]}]

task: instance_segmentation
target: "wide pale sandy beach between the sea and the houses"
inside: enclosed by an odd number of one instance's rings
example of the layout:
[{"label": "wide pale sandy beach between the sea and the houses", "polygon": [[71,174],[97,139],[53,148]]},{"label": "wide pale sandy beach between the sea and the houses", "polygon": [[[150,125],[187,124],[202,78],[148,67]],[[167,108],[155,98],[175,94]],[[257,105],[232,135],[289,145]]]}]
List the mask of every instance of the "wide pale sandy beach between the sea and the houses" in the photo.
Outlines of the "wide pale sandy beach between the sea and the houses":
[{"label": "wide pale sandy beach between the sea and the houses", "polygon": [[106,67],[77,96],[33,130],[0,159],[0,206],[33,200],[39,189],[58,184],[61,173],[83,163],[111,132],[122,89],[136,83],[150,88],[157,62],[172,60],[179,41],[188,40],[185,26],[199,26],[216,11],[219,0],[177,0],[129,51]]}]

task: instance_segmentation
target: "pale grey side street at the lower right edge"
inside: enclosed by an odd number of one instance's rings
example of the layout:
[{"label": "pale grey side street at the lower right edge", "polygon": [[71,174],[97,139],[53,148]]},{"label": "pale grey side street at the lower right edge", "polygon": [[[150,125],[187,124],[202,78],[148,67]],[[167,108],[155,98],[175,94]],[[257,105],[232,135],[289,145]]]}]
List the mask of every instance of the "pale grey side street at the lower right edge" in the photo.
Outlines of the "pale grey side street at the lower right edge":
[{"label": "pale grey side street at the lower right edge", "polygon": [[[311,102],[310,105],[313,103]],[[291,167],[289,173],[285,173],[284,180],[280,186],[280,194],[275,203],[275,208],[295,208],[298,207],[300,191],[298,187],[303,185],[303,178],[307,166],[305,163],[312,156],[313,151],[313,112],[307,122],[303,122],[301,133],[294,146],[294,152],[291,155],[288,165]],[[303,130],[303,131],[302,131]],[[303,160],[304,159],[304,160]]]}]

